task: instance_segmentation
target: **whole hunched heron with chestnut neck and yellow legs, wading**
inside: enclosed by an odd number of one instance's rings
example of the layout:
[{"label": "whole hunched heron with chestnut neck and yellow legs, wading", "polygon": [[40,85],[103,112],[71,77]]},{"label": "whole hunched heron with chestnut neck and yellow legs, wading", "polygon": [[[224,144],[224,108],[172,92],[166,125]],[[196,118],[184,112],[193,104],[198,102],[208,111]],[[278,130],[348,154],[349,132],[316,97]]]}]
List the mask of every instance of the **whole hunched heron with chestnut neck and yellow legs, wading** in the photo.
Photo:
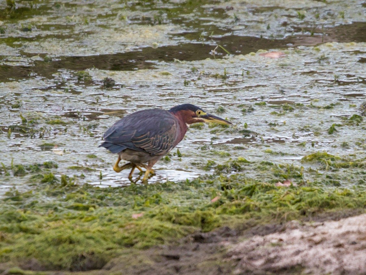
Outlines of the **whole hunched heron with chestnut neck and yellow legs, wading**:
[{"label": "whole hunched heron with chestnut neck and yellow legs, wading", "polygon": [[[150,173],[154,174],[153,165],[168,154],[184,137],[190,124],[196,122],[216,122],[231,124],[220,117],[207,114],[202,108],[192,104],[182,104],[169,111],[149,109],[126,115],[104,133],[104,141],[99,147],[105,147],[118,154],[113,170],[117,173],[132,168],[141,172],[146,168],[143,181]],[[121,159],[128,161],[118,166]],[[147,163],[147,165],[145,164]]]}]

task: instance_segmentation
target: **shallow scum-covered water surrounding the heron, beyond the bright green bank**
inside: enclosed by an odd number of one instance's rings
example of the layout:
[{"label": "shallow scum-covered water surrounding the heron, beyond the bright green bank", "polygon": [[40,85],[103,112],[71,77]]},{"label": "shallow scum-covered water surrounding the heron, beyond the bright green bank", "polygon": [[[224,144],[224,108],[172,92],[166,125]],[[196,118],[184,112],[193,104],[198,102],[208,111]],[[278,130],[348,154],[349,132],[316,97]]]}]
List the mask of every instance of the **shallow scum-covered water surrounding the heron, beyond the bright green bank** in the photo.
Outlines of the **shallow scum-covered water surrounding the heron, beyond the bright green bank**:
[{"label": "shallow scum-covered water surrounding the heron, beyond the bright green bank", "polygon": [[[112,170],[116,156],[98,148],[103,132],[126,113],[181,103],[235,126],[189,129],[182,157],[173,149],[150,183],[213,173],[208,161],[239,157],[299,166],[324,150],[366,158],[365,121],[350,120],[365,101],[362,1],[24,2],[0,3],[5,167],[54,161],[57,176],[78,183],[130,184],[129,171]],[[231,55],[210,54],[218,44]],[[286,56],[265,58],[261,49]],[[105,77],[114,87],[104,88]],[[3,188],[31,177],[0,171]],[[247,172],[265,179],[254,167]],[[342,183],[362,178],[358,172]]]}]

